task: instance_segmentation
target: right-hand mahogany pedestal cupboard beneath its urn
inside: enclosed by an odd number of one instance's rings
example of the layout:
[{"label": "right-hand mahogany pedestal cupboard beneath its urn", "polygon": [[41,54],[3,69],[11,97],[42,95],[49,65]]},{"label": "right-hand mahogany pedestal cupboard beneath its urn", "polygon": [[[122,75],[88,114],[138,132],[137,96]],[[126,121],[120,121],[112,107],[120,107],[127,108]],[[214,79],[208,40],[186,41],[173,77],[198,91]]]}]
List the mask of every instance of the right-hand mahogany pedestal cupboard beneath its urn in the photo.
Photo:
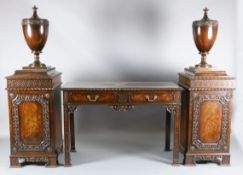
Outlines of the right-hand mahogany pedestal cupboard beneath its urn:
[{"label": "right-hand mahogany pedestal cupboard beneath its urn", "polygon": [[230,125],[235,80],[230,76],[179,74],[182,93],[181,151],[186,165],[230,164]]}]

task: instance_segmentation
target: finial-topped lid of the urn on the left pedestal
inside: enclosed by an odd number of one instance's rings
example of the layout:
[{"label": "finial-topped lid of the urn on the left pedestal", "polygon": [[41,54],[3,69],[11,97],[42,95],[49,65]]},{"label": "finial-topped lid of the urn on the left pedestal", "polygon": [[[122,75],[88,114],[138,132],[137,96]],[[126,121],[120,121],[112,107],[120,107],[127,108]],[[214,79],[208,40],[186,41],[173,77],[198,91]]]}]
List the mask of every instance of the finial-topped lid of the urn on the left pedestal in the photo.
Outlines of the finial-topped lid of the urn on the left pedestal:
[{"label": "finial-topped lid of the urn on the left pedestal", "polygon": [[42,19],[37,14],[37,7],[34,6],[33,8],[33,15],[30,18],[24,18],[22,20],[22,25],[49,25],[49,22],[47,19]]}]

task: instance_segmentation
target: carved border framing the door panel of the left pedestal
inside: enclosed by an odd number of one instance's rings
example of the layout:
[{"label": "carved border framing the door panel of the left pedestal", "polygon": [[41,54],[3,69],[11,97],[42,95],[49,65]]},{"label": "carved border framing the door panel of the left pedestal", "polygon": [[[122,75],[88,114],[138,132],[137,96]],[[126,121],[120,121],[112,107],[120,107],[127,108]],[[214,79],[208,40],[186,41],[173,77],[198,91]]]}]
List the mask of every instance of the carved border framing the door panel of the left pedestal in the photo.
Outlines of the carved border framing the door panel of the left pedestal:
[{"label": "carved border framing the door panel of the left pedestal", "polygon": [[[26,145],[20,139],[19,105],[37,102],[42,106],[44,138],[39,145]],[[12,151],[45,151],[50,147],[49,102],[43,95],[16,95],[12,99],[14,145]]]}]

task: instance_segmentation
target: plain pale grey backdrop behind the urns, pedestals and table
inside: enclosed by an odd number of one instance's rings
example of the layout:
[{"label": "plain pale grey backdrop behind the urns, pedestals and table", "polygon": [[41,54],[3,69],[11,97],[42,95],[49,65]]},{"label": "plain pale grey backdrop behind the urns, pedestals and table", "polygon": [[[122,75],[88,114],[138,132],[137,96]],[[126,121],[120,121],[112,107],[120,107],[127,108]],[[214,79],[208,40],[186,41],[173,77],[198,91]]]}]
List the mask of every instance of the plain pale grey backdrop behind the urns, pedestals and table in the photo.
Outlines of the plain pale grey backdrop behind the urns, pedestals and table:
[{"label": "plain pale grey backdrop behind the urns, pedestals and table", "polygon": [[[192,21],[204,7],[219,21],[219,33],[208,61],[241,77],[240,0],[0,0],[0,128],[9,136],[5,76],[33,61],[21,29],[32,6],[48,18],[50,32],[41,60],[68,81],[173,81],[200,56],[192,39]],[[239,70],[238,72],[236,71]],[[238,86],[242,85],[238,81]],[[237,104],[242,94],[237,92]],[[242,112],[235,105],[233,133],[242,136]],[[160,106],[127,113],[108,107],[78,109],[79,130],[163,128]]]}]

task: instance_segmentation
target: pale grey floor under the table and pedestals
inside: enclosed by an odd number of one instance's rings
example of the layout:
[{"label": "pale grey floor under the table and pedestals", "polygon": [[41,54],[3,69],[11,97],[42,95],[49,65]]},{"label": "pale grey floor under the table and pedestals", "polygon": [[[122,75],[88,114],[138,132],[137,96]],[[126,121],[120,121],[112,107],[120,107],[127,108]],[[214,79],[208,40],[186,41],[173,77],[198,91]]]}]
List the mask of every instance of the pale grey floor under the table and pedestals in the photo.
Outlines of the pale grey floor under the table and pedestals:
[{"label": "pale grey floor under the table and pedestals", "polygon": [[[82,133],[76,136],[77,152],[72,153],[73,166],[45,168],[28,165],[9,168],[9,140],[0,139],[1,175],[228,175],[242,174],[243,151],[236,138],[232,137],[231,166],[199,164],[195,167],[171,165],[172,152],[163,151],[161,132],[103,132]],[[63,155],[60,157],[63,164]],[[181,157],[182,158],[182,157]]]}]

